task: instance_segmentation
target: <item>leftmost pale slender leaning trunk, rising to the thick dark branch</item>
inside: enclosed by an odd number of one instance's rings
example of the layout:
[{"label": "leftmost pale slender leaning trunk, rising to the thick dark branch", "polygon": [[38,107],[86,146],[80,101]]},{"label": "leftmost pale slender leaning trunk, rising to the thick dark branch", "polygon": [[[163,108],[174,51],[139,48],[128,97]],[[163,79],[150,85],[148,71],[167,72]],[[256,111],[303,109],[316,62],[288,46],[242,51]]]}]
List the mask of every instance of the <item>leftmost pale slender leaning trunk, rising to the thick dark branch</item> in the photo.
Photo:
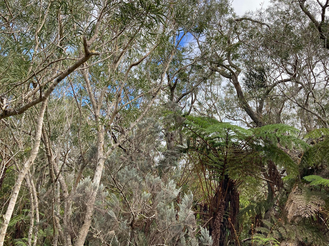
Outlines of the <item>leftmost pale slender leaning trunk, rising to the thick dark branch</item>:
[{"label": "leftmost pale slender leaning trunk, rising to the thick dark branch", "polygon": [[34,163],[34,160],[36,159],[38,151],[39,151],[43,115],[44,115],[44,111],[46,109],[47,102],[48,102],[48,100],[46,99],[41,104],[40,112],[38,115],[38,122],[37,122],[37,126],[36,126],[36,135],[35,135],[35,139],[34,139],[34,145],[31,150],[31,155],[30,155],[29,159],[24,163],[23,168],[21,169],[20,173],[18,174],[17,180],[13,187],[12,195],[11,195],[11,198],[9,201],[9,205],[8,205],[6,214],[3,216],[3,223],[0,228],[0,246],[3,246],[3,244],[4,244],[8,224],[12,217],[13,210],[15,208],[16,200],[17,200],[18,193],[19,193],[20,187],[22,185],[23,179],[24,179],[25,175],[28,173],[28,170],[30,169],[31,165]]}]

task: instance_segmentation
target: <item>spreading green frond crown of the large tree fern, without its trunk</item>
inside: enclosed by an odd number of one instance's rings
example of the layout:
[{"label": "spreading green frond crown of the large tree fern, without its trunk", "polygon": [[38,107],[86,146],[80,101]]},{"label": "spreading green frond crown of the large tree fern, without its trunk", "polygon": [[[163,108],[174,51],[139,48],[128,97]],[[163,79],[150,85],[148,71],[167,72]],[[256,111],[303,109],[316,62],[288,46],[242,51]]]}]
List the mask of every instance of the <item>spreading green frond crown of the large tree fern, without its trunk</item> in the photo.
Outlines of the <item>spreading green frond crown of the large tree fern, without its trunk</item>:
[{"label": "spreading green frond crown of the large tree fern, without its trunk", "polygon": [[[188,116],[186,125],[190,131],[189,136],[204,146],[202,151],[200,147],[195,150],[207,155],[209,167],[220,169],[222,162],[227,162],[231,166],[226,172],[234,179],[240,177],[244,180],[243,184],[257,183],[263,165],[261,160],[272,160],[279,167],[287,169],[289,177],[296,177],[296,163],[278,144],[287,149],[308,146],[297,138],[295,128],[284,124],[245,129],[206,117]],[[252,180],[251,177],[256,179]]]}]

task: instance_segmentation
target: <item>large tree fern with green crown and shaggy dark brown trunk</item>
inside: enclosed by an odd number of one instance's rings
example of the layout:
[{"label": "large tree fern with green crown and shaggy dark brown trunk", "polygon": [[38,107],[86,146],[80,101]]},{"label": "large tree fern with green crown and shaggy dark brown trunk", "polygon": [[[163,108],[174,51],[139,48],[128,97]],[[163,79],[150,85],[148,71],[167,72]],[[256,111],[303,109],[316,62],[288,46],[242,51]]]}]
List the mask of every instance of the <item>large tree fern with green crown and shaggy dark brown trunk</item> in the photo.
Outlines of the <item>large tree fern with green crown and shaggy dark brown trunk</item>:
[{"label": "large tree fern with green crown and shaggy dark brown trunk", "polygon": [[[273,196],[275,186],[283,187],[278,169],[291,178],[297,176],[294,161],[277,144],[287,148],[306,145],[296,137],[296,129],[282,124],[246,130],[210,118],[189,117],[187,128],[192,140],[187,151],[199,177],[204,211],[209,213],[206,219],[213,245],[232,240],[237,244],[240,193],[255,189],[263,180],[270,183],[268,196],[271,192]],[[272,199],[266,200],[265,216],[273,207]]]}]

